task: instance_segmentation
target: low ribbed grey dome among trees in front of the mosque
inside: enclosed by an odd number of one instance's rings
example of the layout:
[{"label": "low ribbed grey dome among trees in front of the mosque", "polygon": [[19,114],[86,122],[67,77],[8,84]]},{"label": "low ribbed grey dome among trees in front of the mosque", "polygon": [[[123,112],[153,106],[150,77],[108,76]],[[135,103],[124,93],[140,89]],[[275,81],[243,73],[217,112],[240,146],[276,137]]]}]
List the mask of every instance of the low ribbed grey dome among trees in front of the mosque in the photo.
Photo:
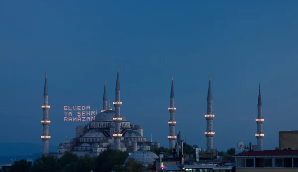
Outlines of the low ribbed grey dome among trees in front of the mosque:
[{"label": "low ribbed grey dome among trees in front of the mosque", "polygon": [[128,159],[134,159],[136,162],[143,164],[144,166],[153,165],[155,159],[158,158],[156,154],[151,151],[137,151],[132,153],[124,162],[128,161]]}]

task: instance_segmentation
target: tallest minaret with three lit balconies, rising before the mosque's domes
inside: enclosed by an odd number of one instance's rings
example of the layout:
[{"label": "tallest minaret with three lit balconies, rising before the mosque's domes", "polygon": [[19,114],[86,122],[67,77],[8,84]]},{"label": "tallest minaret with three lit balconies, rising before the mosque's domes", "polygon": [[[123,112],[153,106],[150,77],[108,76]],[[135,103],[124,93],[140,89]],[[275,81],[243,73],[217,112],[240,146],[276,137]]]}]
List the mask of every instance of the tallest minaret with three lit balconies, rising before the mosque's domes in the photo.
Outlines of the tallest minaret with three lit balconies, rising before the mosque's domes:
[{"label": "tallest minaret with three lit balconies, rising before the mosque's domes", "polygon": [[117,69],[117,80],[116,80],[116,89],[115,89],[115,101],[113,102],[115,107],[115,117],[113,118],[115,123],[115,132],[113,134],[114,137],[114,143],[115,143],[115,150],[120,150],[120,140],[122,137],[122,134],[120,133],[120,124],[122,121],[122,118],[120,116],[120,107],[122,105],[122,102],[120,101],[120,81],[119,81],[119,66]]}]

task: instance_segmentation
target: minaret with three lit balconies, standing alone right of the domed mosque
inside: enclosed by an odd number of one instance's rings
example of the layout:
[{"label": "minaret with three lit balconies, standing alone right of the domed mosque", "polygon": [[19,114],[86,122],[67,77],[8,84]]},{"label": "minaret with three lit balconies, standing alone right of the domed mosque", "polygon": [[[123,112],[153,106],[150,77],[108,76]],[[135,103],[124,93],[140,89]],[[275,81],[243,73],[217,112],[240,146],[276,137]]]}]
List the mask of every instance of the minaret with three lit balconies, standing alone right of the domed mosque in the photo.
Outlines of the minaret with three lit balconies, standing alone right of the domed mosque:
[{"label": "minaret with three lit balconies, standing alone right of the domed mosque", "polygon": [[170,120],[168,121],[168,124],[170,126],[170,134],[168,136],[169,142],[170,142],[170,149],[175,148],[175,140],[177,136],[175,135],[175,96],[174,96],[174,85],[173,85],[173,76],[172,76],[172,86],[171,86],[171,96],[170,96],[170,107],[168,108],[170,112]]}]

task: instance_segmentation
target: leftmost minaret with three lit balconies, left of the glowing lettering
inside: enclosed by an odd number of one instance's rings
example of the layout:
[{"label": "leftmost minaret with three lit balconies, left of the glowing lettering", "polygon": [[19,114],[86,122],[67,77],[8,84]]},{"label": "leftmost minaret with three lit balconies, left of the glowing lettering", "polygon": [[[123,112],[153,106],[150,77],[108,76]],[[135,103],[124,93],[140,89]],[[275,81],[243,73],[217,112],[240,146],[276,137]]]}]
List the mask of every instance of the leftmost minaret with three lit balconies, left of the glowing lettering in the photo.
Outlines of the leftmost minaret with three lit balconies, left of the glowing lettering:
[{"label": "leftmost minaret with three lit balconies, left of the glowing lettering", "polygon": [[41,136],[42,143],[43,143],[43,155],[48,156],[49,155],[49,140],[51,136],[49,135],[49,109],[51,106],[49,106],[49,94],[48,94],[48,83],[47,83],[47,73],[46,73],[46,79],[45,79],[45,87],[44,87],[44,105],[41,106],[43,110],[43,120],[41,121],[43,126],[43,135]]}]

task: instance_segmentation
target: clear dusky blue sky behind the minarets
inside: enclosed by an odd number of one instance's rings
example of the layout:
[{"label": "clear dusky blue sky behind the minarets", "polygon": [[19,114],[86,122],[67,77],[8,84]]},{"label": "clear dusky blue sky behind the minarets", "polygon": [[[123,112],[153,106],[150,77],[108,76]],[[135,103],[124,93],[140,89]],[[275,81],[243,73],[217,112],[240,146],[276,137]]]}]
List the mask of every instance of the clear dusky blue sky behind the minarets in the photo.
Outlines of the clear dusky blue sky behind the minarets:
[{"label": "clear dusky blue sky behind the minarets", "polygon": [[[171,76],[176,133],[206,148],[207,89],[212,80],[214,147],[257,140],[258,86],[264,149],[298,115],[297,0],[1,0],[0,138],[42,144],[48,73],[50,145],[74,137],[64,105],[101,110],[103,84],[121,113],[168,147]],[[114,109],[114,107],[112,107]]]}]

